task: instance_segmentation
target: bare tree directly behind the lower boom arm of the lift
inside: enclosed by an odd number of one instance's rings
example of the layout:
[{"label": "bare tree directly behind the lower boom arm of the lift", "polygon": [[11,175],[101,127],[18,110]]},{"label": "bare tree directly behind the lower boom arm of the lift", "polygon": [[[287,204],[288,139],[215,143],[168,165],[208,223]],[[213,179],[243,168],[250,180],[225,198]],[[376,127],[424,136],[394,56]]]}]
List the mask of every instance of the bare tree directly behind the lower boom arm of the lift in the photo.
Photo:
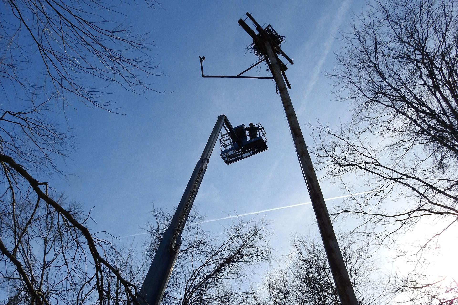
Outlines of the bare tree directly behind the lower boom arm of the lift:
[{"label": "bare tree directly behind the lower boom arm of the lift", "polygon": [[[152,258],[171,213],[153,210],[148,231]],[[206,232],[202,217],[193,214],[183,232],[180,252],[169,285],[165,305],[242,305],[254,302],[252,273],[271,259],[272,231],[263,220],[238,219],[220,234]],[[253,287],[251,287],[253,286]]]}]

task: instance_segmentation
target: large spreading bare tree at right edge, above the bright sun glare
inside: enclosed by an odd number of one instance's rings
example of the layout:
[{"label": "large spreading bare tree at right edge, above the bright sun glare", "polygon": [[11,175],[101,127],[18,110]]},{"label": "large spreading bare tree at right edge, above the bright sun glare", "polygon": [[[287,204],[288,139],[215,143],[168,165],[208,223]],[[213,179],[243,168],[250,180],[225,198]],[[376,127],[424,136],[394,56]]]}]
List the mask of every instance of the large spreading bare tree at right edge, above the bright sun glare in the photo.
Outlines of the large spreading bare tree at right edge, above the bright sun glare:
[{"label": "large spreading bare tree at right edge, above the bright sun glare", "polygon": [[401,253],[420,258],[458,220],[458,3],[370,5],[342,33],[344,47],[328,72],[352,118],[337,130],[318,124],[315,153],[345,189],[374,191],[337,214],[376,224],[379,241],[396,247],[398,233],[420,219],[431,224],[417,249]]}]

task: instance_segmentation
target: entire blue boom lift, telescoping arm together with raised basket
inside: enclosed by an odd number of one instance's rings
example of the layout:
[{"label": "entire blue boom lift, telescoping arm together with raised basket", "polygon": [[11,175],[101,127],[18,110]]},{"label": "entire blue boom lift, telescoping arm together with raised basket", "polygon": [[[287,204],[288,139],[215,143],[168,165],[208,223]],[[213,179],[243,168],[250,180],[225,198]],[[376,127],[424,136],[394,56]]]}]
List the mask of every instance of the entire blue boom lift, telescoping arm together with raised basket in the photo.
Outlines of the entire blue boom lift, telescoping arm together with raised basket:
[{"label": "entire blue boom lift, telescoping arm together with raised basket", "polygon": [[[196,167],[186,186],[185,193],[181,197],[169,228],[165,230],[164,236],[158,246],[158,251],[154,255],[142,288],[137,295],[136,300],[139,304],[159,305],[162,301],[176,257],[178,256],[178,251],[180,250],[181,233],[196,198],[203,175],[207,170],[210,155],[218,140],[221,129],[224,127],[226,131],[225,134],[221,133],[222,139],[220,140],[221,158],[223,158],[226,164],[234,163],[235,161],[267,150],[267,139],[264,128],[262,128],[261,124],[251,125],[248,128],[245,128],[243,124],[233,128],[224,114],[218,116],[212,134],[210,134],[200,160],[197,161]],[[248,139],[246,131],[248,131],[250,139]]]}]

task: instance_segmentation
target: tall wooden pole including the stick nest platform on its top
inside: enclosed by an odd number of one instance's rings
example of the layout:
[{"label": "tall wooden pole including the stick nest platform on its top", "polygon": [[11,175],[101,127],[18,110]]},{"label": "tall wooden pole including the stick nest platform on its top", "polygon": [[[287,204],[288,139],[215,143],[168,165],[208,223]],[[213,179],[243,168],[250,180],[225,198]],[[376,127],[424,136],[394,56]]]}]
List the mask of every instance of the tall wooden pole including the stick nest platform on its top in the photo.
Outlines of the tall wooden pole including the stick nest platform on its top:
[{"label": "tall wooden pole including the stick nest platform on its top", "polygon": [[249,13],[246,13],[246,16],[248,16],[248,18],[250,18],[250,20],[255,24],[258,34],[251,30],[243,19],[239,20],[239,24],[253,38],[253,43],[256,49],[266,59],[269,70],[277,83],[278,92],[280,93],[283,102],[283,107],[289,123],[289,129],[291,130],[291,134],[293,136],[294,146],[296,147],[296,151],[299,155],[300,166],[310,194],[316,220],[318,222],[318,228],[321,233],[329,266],[331,267],[331,272],[333,273],[340,302],[342,305],[358,305],[358,300],[356,300],[348,271],[345,267],[344,258],[342,257],[342,253],[334,233],[331,218],[327,212],[326,203],[324,202],[315,169],[313,168],[307,146],[305,145],[304,136],[300,130],[300,125],[297,120],[296,113],[294,112],[294,107],[291,103],[288,89],[286,88],[284,81],[284,77],[286,79],[286,76],[284,75],[284,70],[286,70],[285,65],[278,59],[277,53],[282,54],[291,64],[292,60],[289,59],[280,49],[278,39],[273,37],[272,33],[274,31],[269,31],[268,27],[266,29],[262,28]]}]

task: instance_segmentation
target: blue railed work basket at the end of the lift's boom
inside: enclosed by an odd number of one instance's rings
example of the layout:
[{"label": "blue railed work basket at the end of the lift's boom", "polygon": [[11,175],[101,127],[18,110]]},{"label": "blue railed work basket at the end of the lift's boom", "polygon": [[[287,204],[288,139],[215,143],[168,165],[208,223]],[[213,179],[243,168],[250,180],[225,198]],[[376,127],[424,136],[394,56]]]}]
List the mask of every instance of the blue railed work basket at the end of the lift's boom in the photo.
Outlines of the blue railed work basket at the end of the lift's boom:
[{"label": "blue railed work basket at the end of the lift's boom", "polygon": [[234,163],[235,161],[267,150],[267,139],[264,128],[262,128],[261,124],[256,124],[254,127],[257,128],[256,137],[253,137],[254,133],[250,137],[247,136],[244,124],[234,127],[232,132],[224,126],[226,133],[221,133],[222,138],[219,140],[219,143],[221,144],[221,158],[223,158],[226,164]]}]

